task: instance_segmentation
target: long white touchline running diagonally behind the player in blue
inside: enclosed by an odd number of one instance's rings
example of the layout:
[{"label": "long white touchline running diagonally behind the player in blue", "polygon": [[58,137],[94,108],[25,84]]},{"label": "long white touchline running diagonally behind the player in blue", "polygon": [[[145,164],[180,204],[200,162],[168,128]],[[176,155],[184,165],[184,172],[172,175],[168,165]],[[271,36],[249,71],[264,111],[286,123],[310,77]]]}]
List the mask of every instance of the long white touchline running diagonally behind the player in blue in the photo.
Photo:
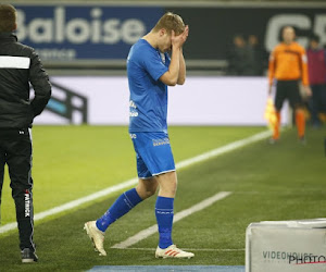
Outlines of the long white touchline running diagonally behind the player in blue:
[{"label": "long white touchline running diagonally behind the player in blue", "polygon": [[[230,143],[230,144],[225,145],[223,147],[218,147],[216,149],[213,149],[211,151],[204,152],[202,154],[199,154],[199,156],[192,157],[190,159],[180,161],[180,162],[176,163],[176,169],[180,170],[180,169],[187,168],[189,165],[192,165],[195,163],[209,160],[211,158],[214,158],[214,157],[221,156],[223,153],[233,151],[233,150],[235,150],[237,148],[247,146],[249,144],[259,141],[259,140],[264,139],[264,138],[267,138],[268,136],[271,136],[271,132],[266,131],[266,132],[262,132],[262,133],[255,134],[253,136],[250,136],[248,138]],[[95,199],[98,199],[100,197],[104,197],[104,196],[108,196],[108,195],[110,195],[112,193],[115,193],[115,191],[122,190],[124,188],[130,187],[130,186],[133,186],[133,185],[135,185],[137,183],[138,183],[138,178],[137,177],[136,178],[131,178],[131,180],[123,182],[123,183],[121,183],[118,185],[114,185],[114,186],[108,187],[105,189],[99,190],[99,191],[97,191],[95,194],[91,194],[91,195],[88,195],[86,197],[78,198],[78,199],[73,200],[71,202],[67,202],[65,205],[61,205],[61,206],[54,207],[54,208],[52,208],[50,210],[39,212],[39,213],[35,214],[34,221],[39,221],[39,220],[42,220],[42,219],[48,218],[50,215],[54,215],[57,213],[74,209],[74,208],[76,208],[76,207],[78,207],[80,205],[90,202],[90,201],[92,201]],[[8,223],[8,224],[5,224],[3,226],[0,226],[0,234],[1,233],[7,233],[7,232],[12,231],[12,230],[14,230],[16,227],[17,227],[17,223]]]}]

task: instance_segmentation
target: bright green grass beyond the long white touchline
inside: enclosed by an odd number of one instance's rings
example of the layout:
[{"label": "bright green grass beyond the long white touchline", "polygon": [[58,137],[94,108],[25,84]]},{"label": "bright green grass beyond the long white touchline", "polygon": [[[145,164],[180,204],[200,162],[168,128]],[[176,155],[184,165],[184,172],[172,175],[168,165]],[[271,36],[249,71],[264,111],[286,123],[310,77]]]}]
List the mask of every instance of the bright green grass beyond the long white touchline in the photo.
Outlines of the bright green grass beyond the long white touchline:
[{"label": "bright green grass beyond the long white touchline", "polygon": [[[263,131],[262,127],[171,127],[176,162]],[[136,177],[136,156],[125,126],[35,126],[35,213]],[[1,224],[15,221],[8,173]]]}]

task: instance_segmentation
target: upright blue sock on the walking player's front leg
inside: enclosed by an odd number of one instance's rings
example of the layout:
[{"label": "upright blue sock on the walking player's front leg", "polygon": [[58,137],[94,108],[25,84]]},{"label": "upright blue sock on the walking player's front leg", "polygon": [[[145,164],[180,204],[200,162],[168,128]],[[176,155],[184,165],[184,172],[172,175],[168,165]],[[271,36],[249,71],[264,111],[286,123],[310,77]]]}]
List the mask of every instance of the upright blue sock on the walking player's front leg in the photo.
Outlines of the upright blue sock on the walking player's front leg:
[{"label": "upright blue sock on the walking player's front leg", "polygon": [[160,248],[167,248],[172,243],[172,224],[173,224],[173,201],[174,198],[158,197],[155,205],[155,215],[159,225]]}]

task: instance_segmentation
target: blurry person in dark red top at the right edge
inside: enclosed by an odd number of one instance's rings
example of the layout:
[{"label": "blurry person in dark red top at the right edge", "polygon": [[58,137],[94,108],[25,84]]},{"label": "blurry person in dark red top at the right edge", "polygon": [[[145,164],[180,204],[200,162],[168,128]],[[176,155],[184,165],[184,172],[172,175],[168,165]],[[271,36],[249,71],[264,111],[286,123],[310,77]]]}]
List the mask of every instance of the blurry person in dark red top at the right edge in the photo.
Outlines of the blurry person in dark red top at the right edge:
[{"label": "blurry person in dark red top at the right edge", "polygon": [[326,113],[326,50],[319,47],[319,37],[312,36],[306,50],[308,72],[312,89],[309,101],[314,127],[321,126],[318,113]]}]

